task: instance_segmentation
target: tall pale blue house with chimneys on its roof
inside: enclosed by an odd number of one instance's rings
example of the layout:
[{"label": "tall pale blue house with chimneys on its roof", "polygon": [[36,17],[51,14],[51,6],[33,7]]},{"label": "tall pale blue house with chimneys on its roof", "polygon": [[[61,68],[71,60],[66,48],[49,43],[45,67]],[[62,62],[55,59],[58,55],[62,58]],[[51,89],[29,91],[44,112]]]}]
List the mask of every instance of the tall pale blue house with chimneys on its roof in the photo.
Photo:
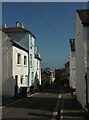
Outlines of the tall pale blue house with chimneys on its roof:
[{"label": "tall pale blue house with chimneys on its roof", "polygon": [[30,86],[34,83],[34,49],[35,49],[35,39],[36,37],[28,30],[24,29],[23,23],[19,26],[19,23],[16,22],[16,27],[3,28],[3,31],[11,36],[11,39],[22,46],[28,52],[28,78],[29,78],[29,90]]}]

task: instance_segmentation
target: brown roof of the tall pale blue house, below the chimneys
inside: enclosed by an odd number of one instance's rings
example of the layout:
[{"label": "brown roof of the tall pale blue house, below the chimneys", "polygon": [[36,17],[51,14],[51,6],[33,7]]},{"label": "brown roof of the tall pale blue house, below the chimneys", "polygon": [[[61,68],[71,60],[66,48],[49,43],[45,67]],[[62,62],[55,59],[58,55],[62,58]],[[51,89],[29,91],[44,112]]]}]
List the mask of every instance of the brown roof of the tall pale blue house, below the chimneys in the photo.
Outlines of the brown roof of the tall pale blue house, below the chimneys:
[{"label": "brown roof of the tall pale blue house, below the chimneys", "polygon": [[36,39],[36,37],[30,31],[28,31],[24,28],[21,28],[21,27],[2,28],[2,31],[5,32],[5,33],[28,32]]}]

